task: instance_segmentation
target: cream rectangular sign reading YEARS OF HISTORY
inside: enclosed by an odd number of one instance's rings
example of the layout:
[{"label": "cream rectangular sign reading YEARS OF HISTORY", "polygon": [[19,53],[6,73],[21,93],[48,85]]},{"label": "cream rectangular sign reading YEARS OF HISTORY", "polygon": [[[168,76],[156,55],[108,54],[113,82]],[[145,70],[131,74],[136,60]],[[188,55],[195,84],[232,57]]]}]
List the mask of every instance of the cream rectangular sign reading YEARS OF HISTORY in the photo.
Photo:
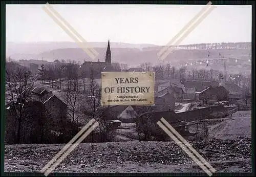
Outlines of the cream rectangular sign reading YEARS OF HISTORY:
[{"label": "cream rectangular sign reading YEARS OF HISTORY", "polygon": [[154,72],[102,72],[101,105],[154,105]]}]

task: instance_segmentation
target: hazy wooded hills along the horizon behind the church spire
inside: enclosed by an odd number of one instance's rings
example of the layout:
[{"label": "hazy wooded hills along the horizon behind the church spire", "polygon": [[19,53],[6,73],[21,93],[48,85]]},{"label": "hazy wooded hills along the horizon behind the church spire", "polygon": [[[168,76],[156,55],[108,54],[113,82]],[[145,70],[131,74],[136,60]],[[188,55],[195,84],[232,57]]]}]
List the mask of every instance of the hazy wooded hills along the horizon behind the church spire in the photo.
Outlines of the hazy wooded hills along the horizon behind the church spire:
[{"label": "hazy wooded hills along the horizon behind the church spire", "polygon": [[[47,46],[47,44],[49,46]],[[104,61],[107,43],[93,42],[91,44],[94,46],[101,46],[94,47],[94,49],[99,53],[100,61]],[[7,50],[12,51],[13,55],[9,56],[11,56],[11,58],[14,60],[41,60],[43,58],[49,62],[53,62],[55,59],[64,59],[66,61],[75,60],[80,62],[83,62],[84,59],[86,61],[93,61],[82,49],[78,48],[74,42],[39,42],[38,44],[34,44],[34,46],[31,44],[15,44],[17,48],[19,46],[19,49],[16,51],[22,51],[22,48],[24,48],[24,50],[29,51],[28,53],[14,53],[15,48],[12,48],[12,45],[13,44],[11,44],[11,46],[7,46]],[[129,43],[111,42],[111,54],[112,62],[126,63],[130,67],[137,67],[144,62],[151,62],[153,64],[168,62],[178,68],[186,66],[188,69],[206,68],[222,70],[223,60],[220,57],[221,54],[226,58],[227,71],[233,73],[241,70],[248,73],[251,72],[250,45],[250,42],[243,42],[220,43],[218,45],[199,44],[181,46],[180,48],[182,49],[173,51],[166,57],[164,61],[160,61],[157,53],[160,51],[160,49],[162,49],[162,46],[146,44],[132,45]],[[205,50],[205,48],[211,49]],[[37,52],[39,50],[42,52]],[[98,61],[98,58],[95,61]]]}]

